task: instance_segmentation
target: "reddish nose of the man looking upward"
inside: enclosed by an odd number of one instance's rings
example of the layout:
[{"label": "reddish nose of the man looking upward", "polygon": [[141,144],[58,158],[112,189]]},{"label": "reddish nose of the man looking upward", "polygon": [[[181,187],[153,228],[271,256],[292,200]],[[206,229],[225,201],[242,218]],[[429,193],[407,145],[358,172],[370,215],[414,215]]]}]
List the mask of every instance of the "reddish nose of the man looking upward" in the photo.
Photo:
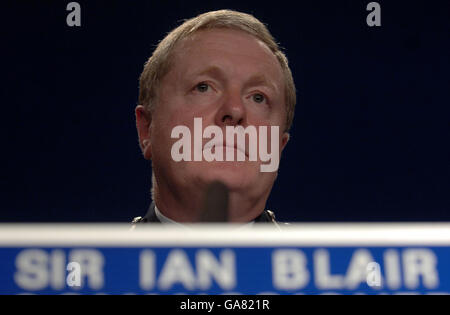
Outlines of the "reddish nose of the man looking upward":
[{"label": "reddish nose of the man looking upward", "polygon": [[246,120],[245,104],[241,93],[227,93],[216,114],[215,122],[218,126],[243,125]]}]

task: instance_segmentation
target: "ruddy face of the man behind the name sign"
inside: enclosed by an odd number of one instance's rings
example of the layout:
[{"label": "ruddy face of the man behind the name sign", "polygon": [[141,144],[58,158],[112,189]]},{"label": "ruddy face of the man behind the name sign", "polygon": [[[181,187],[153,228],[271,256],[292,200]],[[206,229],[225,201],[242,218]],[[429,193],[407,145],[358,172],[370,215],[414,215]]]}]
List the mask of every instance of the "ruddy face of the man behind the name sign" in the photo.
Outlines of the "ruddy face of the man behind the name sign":
[{"label": "ruddy face of the man behind the name sign", "polygon": [[[187,126],[194,144],[194,118],[202,118],[203,129],[218,126],[226,151],[226,126],[279,126],[278,152],[287,142],[284,76],[270,49],[255,37],[235,30],[199,31],[175,48],[169,72],[158,91],[150,124],[148,157],[158,186],[171,190],[204,187],[220,180],[231,192],[265,195],[270,192],[275,172],[261,172],[257,161],[180,161],[171,156],[178,139],[171,138],[176,126]],[[203,132],[203,130],[202,130]],[[270,150],[270,132],[267,147]],[[210,139],[202,139],[204,146]],[[235,139],[235,143],[237,139]],[[273,139],[274,140],[274,139]],[[246,137],[248,154],[249,138]],[[246,159],[248,159],[246,157]],[[161,182],[161,181],[164,181]]]}]

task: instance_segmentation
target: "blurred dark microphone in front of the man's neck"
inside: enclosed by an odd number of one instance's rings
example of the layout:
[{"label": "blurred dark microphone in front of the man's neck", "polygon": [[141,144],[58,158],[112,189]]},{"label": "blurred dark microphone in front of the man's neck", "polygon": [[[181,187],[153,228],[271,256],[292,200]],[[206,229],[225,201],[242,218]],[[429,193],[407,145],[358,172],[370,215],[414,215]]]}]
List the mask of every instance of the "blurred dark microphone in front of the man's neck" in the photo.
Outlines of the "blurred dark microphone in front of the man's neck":
[{"label": "blurred dark microphone in front of the man's neck", "polygon": [[215,181],[208,185],[205,192],[199,222],[228,222],[228,187]]}]

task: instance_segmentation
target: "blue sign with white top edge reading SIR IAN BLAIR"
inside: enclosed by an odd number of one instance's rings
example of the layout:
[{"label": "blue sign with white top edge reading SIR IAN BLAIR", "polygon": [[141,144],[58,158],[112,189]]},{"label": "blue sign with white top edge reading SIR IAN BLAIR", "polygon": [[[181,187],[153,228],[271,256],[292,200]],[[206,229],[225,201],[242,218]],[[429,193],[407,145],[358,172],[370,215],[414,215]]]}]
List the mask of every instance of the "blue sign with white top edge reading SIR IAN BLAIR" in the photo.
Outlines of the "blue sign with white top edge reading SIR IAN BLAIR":
[{"label": "blue sign with white top edge reading SIR IAN BLAIR", "polygon": [[447,294],[450,224],[0,225],[0,294]]}]

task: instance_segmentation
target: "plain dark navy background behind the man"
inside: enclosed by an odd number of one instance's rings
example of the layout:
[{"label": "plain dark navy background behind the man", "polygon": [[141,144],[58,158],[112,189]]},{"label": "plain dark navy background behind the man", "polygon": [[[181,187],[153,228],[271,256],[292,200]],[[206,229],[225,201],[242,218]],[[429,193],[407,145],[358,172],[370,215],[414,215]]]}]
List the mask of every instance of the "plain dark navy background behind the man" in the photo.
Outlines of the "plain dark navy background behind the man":
[{"label": "plain dark navy background behind the man", "polygon": [[149,204],[138,78],[184,18],[254,14],[298,90],[268,202],[285,221],[450,220],[450,1],[1,3],[1,221],[129,221]]}]

